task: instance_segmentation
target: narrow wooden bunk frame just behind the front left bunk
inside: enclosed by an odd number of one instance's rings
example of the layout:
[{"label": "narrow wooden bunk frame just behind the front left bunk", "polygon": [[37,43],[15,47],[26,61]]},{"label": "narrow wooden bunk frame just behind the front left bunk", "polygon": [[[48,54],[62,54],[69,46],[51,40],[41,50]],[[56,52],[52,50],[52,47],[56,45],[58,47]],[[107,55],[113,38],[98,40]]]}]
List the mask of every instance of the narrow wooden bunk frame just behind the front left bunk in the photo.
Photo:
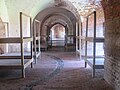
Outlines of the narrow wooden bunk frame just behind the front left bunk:
[{"label": "narrow wooden bunk frame just behind the front left bunk", "polygon": [[[38,24],[38,27],[37,27]],[[41,50],[40,50],[40,21],[35,19],[34,20],[34,25],[33,25],[33,39],[34,39],[34,60],[35,64],[37,63],[37,58],[41,55]],[[38,33],[37,33],[38,31]],[[37,35],[38,34],[38,35]],[[38,49],[38,50],[37,50]],[[41,57],[41,56],[40,56]]]}]

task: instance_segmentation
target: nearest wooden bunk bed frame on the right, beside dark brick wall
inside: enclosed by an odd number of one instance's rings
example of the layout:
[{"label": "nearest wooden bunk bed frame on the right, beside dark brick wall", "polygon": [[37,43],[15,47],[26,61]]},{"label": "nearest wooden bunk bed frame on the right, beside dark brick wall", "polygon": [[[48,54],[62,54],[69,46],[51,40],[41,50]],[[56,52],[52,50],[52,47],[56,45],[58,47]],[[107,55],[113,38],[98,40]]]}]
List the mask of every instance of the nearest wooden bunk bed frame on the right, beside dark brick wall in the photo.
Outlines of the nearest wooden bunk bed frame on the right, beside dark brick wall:
[{"label": "nearest wooden bunk bed frame on the right, beside dark brick wall", "polygon": [[[88,37],[88,20],[91,15],[94,15],[94,35],[93,37]],[[104,56],[96,55],[96,43],[104,43],[104,37],[96,36],[96,11],[89,14],[86,19],[86,35],[82,36],[81,34],[80,39],[85,41],[85,67],[87,67],[88,64],[92,68],[92,77],[95,77],[96,69],[104,69]],[[93,43],[93,56],[88,56],[88,42]]]}]

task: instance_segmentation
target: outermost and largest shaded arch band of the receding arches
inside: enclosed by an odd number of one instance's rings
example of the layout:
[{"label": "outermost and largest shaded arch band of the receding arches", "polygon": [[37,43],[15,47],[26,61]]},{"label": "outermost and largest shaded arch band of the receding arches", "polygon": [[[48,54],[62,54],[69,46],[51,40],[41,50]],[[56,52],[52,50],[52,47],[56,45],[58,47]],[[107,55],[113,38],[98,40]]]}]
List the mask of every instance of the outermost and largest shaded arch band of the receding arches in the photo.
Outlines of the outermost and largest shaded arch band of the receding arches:
[{"label": "outermost and largest shaded arch band of the receding arches", "polygon": [[[74,11],[74,12],[73,12]],[[50,14],[55,14],[55,13],[60,13],[60,14],[64,14],[66,16],[68,16],[70,19],[74,19],[75,21],[79,20],[80,15],[79,13],[74,10],[74,9],[69,9],[68,6],[65,7],[48,7],[45,8],[44,10],[40,11],[35,18],[39,19],[40,21],[43,21],[43,19],[45,19],[46,16],[50,15]]]}]

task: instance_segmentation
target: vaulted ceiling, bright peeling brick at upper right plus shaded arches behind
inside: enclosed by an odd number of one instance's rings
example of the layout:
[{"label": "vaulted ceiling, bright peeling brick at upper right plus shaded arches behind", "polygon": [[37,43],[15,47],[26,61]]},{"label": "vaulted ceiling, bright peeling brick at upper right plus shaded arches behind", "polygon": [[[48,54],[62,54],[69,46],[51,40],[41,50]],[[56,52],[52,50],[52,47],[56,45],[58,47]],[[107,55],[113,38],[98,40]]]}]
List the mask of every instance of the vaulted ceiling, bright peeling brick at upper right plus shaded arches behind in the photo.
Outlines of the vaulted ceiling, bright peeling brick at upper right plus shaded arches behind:
[{"label": "vaulted ceiling, bright peeling brick at upper right plus shaded arches behind", "polygon": [[[103,10],[100,0],[54,0],[54,3],[40,12],[36,18],[41,21],[41,30],[46,33],[46,26],[54,22],[67,23],[70,32],[75,34],[75,23],[80,16],[85,17],[94,10],[99,10],[103,17]],[[54,23],[53,23],[54,24]]]}]

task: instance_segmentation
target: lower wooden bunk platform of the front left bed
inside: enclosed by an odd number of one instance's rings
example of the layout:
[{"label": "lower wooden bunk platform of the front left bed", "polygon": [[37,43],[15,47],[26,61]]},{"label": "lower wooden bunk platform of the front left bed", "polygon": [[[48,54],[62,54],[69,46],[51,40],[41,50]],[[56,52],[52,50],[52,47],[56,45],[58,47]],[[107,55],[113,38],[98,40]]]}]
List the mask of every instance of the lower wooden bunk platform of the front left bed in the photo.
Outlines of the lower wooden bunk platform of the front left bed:
[{"label": "lower wooden bunk platform of the front left bed", "polygon": [[24,65],[21,64],[21,59],[0,59],[0,70],[21,69],[22,78],[25,77],[25,68],[31,65],[33,67],[33,59],[24,59]]}]

